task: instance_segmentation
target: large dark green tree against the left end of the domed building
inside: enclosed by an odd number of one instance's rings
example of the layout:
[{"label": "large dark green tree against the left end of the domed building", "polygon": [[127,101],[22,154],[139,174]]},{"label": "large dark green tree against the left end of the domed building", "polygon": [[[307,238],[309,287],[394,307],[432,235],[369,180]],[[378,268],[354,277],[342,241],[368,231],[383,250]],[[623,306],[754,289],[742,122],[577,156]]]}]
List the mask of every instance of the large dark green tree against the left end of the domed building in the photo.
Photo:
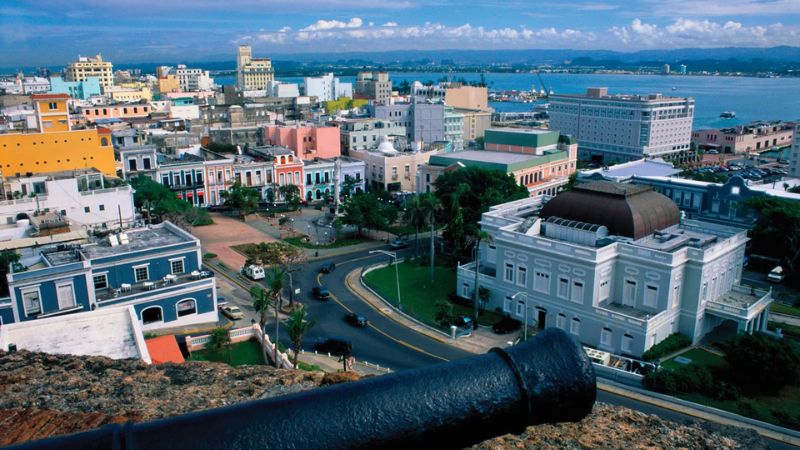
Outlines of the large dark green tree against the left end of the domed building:
[{"label": "large dark green tree against the left end of the domed building", "polygon": [[440,175],[436,198],[449,217],[443,233],[454,255],[467,256],[467,240],[477,236],[477,223],[489,207],[528,197],[528,189],[500,170],[465,167]]}]

